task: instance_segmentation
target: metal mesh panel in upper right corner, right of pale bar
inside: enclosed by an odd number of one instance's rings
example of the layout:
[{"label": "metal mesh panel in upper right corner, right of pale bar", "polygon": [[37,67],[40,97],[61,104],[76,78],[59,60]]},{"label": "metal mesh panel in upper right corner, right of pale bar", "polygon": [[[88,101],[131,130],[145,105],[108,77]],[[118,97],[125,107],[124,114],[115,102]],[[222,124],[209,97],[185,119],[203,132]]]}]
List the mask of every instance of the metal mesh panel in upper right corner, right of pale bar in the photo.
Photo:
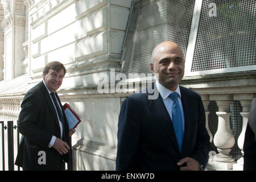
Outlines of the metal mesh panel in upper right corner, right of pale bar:
[{"label": "metal mesh panel in upper right corner, right of pale bar", "polygon": [[203,1],[191,71],[256,65],[255,9],[251,0]]}]

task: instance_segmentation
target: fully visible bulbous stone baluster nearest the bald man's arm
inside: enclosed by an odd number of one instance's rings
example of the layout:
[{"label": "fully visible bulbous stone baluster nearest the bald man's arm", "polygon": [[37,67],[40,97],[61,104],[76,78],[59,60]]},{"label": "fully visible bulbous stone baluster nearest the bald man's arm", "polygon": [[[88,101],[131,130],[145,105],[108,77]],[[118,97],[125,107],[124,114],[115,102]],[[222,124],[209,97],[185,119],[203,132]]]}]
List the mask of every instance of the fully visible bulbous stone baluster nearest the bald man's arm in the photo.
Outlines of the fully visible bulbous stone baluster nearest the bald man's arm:
[{"label": "fully visible bulbous stone baluster nearest the bald man's arm", "polygon": [[[214,156],[217,166],[223,169],[232,169],[235,159],[230,155],[235,139],[230,130],[230,104],[233,100],[232,94],[213,95],[216,100],[218,111],[218,129],[213,138],[218,154]],[[212,100],[212,99],[211,99]]]}]

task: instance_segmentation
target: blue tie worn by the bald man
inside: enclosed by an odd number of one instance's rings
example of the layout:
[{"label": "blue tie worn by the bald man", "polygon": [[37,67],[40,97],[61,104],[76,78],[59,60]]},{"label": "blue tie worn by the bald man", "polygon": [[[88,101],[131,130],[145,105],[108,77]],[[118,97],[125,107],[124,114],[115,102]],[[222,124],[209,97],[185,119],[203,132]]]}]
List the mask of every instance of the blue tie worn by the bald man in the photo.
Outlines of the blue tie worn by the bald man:
[{"label": "blue tie worn by the bald man", "polygon": [[172,124],[174,125],[174,131],[179,144],[180,152],[183,142],[183,121],[182,114],[180,110],[179,101],[177,100],[178,93],[172,92],[169,97],[174,101],[172,105]]}]

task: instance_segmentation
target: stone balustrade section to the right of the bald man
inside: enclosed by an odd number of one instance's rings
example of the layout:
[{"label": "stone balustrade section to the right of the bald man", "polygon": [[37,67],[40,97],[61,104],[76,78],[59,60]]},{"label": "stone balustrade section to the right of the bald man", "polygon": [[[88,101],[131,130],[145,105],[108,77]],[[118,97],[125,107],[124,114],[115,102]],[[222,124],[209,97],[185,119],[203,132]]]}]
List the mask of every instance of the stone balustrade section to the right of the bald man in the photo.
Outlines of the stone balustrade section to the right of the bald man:
[{"label": "stone balustrade section to the right of the bald man", "polygon": [[[203,104],[205,107],[206,115],[206,127],[210,135],[210,142],[212,145],[217,147],[217,151],[210,152],[209,170],[236,170],[241,171],[243,169],[243,157],[240,159],[236,158],[231,154],[232,150],[236,150],[238,146],[241,150],[241,156],[243,156],[243,142],[245,139],[245,130],[249,117],[251,101],[255,97],[255,93],[248,94],[205,94],[202,95]],[[215,112],[217,115],[217,131],[212,133],[210,131],[208,116],[209,116],[209,103],[213,101],[218,107],[218,111]],[[235,117],[231,117],[232,112],[230,107],[236,102],[236,105],[242,107],[242,111],[238,107],[234,107],[233,112],[236,112]],[[242,118],[240,121],[239,117]],[[230,119],[233,118],[233,121]],[[216,119],[215,119],[216,120]],[[241,123],[240,123],[241,122]],[[234,125],[233,131],[230,129],[230,125]],[[239,135],[238,135],[239,134]],[[234,137],[238,135],[238,139]],[[239,149],[238,149],[239,150]],[[233,152],[234,153],[234,152]],[[212,156],[214,154],[214,156]]]}]

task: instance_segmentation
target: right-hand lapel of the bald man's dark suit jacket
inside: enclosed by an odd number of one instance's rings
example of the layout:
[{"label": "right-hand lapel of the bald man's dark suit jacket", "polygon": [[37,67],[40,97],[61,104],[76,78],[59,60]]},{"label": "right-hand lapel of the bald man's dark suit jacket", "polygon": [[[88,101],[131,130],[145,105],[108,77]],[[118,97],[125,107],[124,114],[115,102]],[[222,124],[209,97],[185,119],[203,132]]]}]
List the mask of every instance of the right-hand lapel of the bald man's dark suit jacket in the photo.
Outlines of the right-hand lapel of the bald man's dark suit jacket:
[{"label": "right-hand lapel of the bald man's dark suit jacket", "polygon": [[192,104],[189,103],[189,96],[185,92],[184,88],[180,86],[180,94],[181,94],[181,102],[183,106],[183,111],[184,111],[184,137],[183,137],[183,144],[182,144],[182,151],[185,151],[185,147],[188,146],[188,141],[189,141],[189,135],[191,133],[191,114],[190,111]]}]

